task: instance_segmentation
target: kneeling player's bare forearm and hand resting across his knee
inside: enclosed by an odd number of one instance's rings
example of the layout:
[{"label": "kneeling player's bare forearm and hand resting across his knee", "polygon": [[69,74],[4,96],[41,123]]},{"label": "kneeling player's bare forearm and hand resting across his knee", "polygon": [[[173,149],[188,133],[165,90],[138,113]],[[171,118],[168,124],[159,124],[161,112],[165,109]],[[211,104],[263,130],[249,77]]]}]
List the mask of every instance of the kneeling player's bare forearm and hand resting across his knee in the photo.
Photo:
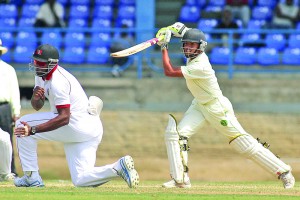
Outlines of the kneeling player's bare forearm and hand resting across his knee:
[{"label": "kneeling player's bare forearm and hand resting across his knee", "polygon": [[[70,115],[71,115],[70,108],[58,108],[57,111],[58,111],[58,115],[55,118],[36,126],[36,133],[52,131],[52,130],[58,129],[62,126],[69,124]],[[21,121],[21,123],[24,126],[26,126],[27,130],[30,132],[31,126],[27,122],[24,122],[24,121]],[[26,135],[25,131],[26,131],[26,128],[17,127],[14,130],[14,134],[16,136],[24,136],[24,135]]]}]

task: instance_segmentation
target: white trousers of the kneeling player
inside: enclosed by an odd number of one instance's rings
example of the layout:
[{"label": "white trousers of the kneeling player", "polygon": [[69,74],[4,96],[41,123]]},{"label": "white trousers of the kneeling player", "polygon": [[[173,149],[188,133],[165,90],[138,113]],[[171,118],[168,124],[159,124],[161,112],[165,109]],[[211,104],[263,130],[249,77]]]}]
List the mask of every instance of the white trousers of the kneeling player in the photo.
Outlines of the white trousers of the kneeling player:
[{"label": "white trousers of the kneeling player", "polygon": [[[27,122],[30,126],[36,126],[55,116],[56,114],[51,112],[25,115],[16,122],[16,127],[20,125],[21,121]],[[94,117],[99,118],[98,116]],[[93,125],[91,122],[90,126]],[[23,171],[39,170],[37,161],[38,140],[58,141],[64,145],[69,171],[75,186],[98,186],[110,181],[118,176],[113,169],[117,162],[95,167],[96,151],[103,133],[100,119],[98,129],[100,130],[97,130],[99,134],[96,137],[94,133],[80,133],[69,125],[29,137],[17,137],[17,148]]]}]

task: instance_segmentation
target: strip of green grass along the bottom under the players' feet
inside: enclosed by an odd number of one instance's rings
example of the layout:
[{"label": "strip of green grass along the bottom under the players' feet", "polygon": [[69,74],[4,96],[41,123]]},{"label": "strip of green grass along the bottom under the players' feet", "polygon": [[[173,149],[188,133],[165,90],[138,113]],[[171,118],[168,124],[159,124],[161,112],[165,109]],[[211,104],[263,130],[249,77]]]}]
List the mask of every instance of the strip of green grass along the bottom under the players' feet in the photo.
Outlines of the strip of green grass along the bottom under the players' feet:
[{"label": "strip of green grass along the bottom under the players' feet", "polygon": [[190,189],[165,189],[159,181],[143,181],[130,189],[124,181],[114,180],[96,188],[76,188],[70,181],[46,180],[44,188],[16,188],[0,183],[0,199],[81,200],[81,199],[201,199],[201,200],[289,200],[300,198],[300,187],[285,190],[281,182],[193,182]]}]

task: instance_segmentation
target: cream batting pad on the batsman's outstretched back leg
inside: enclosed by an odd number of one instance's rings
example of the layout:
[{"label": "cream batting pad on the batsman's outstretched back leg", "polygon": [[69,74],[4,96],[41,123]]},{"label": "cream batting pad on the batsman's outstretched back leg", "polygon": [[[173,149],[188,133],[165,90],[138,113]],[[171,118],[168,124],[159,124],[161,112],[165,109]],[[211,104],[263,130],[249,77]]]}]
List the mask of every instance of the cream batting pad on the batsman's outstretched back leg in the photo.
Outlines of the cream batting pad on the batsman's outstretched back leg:
[{"label": "cream batting pad on the batsman's outstretched back leg", "polygon": [[267,171],[280,175],[291,170],[291,167],[277,158],[269,149],[263,147],[250,135],[242,135],[234,139],[231,144],[241,154],[262,166]]}]

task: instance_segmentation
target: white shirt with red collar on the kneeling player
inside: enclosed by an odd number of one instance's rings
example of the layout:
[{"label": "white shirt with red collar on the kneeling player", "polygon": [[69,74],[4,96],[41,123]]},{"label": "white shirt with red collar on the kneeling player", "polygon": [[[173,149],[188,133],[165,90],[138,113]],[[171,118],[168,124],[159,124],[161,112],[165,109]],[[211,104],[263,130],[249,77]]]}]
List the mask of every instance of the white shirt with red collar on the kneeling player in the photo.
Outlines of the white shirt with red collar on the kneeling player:
[{"label": "white shirt with red collar on the kneeling player", "polygon": [[87,112],[88,97],[72,74],[56,66],[45,80],[36,76],[35,86],[44,88],[51,112],[57,113],[57,108],[70,107],[71,117],[68,126],[73,130],[90,136],[99,135],[99,131],[102,130],[100,119]]}]

